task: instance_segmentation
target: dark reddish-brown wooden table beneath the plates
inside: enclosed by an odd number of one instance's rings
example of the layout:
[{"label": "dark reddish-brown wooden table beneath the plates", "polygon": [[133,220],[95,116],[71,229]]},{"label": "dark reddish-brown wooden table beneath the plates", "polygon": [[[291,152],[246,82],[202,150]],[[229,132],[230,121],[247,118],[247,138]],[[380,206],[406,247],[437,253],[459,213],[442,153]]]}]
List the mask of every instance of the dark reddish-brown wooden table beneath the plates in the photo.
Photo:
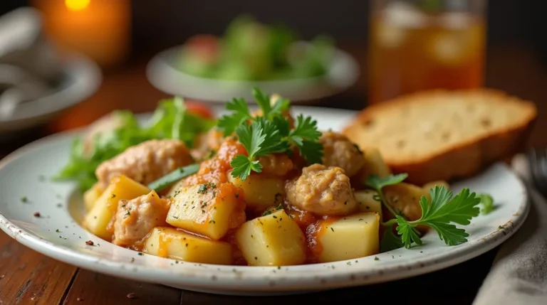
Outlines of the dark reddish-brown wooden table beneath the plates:
[{"label": "dark reddish-brown wooden table beneath the plates", "polygon": [[[364,48],[348,48],[365,71]],[[46,127],[33,129],[9,144],[0,144],[0,157],[28,141],[53,132],[81,127],[113,109],[146,112],[167,95],[155,90],[145,78],[145,60],[105,74],[100,90],[89,100],[64,112]],[[506,90],[538,104],[539,119],[529,144],[547,146],[547,77],[526,50],[499,48],[489,52],[486,79],[489,87]],[[366,81],[361,77],[348,92],[322,101],[328,107],[361,109],[365,106]],[[0,304],[283,304],[307,301],[382,300],[405,304],[470,304],[489,271],[496,250],[439,272],[367,287],[337,289],[315,294],[278,297],[216,296],[182,291],[156,284],[133,282],[78,269],[34,252],[0,232]],[[127,294],[135,294],[134,299]],[[397,299],[395,299],[397,298]]]}]

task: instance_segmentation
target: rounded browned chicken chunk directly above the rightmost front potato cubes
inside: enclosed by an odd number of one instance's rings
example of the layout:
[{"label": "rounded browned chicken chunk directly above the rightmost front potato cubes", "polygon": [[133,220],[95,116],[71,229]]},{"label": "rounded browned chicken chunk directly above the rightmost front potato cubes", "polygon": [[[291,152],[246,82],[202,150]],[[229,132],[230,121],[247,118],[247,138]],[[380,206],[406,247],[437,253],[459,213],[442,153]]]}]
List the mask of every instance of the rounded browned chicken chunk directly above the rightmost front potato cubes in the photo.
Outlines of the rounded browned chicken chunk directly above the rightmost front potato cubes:
[{"label": "rounded browned chicken chunk directly above the rightmost front potato cubes", "polygon": [[319,215],[346,215],[357,208],[350,178],[339,167],[313,164],[285,184],[288,203]]}]

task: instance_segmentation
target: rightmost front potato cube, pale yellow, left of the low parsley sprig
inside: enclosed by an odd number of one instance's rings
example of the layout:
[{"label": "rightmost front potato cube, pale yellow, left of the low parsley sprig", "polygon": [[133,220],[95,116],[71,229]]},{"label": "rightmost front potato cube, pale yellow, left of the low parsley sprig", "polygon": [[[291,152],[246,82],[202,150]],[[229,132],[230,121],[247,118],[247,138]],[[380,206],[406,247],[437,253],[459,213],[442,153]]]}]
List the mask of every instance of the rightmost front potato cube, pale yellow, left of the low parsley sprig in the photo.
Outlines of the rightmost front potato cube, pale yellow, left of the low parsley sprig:
[{"label": "rightmost front potato cube, pale yellow, left of the low parsley sprig", "polygon": [[339,220],[321,220],[318,230],[308,238],[321,245],[319,262],[335,262],[375,255],[380,247],[380,215],[359,213]]}]

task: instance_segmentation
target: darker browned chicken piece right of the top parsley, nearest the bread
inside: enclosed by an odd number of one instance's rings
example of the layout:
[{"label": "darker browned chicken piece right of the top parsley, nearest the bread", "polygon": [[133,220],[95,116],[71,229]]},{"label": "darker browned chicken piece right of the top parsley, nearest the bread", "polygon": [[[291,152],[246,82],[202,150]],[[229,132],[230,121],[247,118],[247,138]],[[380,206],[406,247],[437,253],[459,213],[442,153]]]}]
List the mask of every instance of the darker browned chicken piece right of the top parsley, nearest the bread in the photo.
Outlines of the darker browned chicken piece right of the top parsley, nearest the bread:
[{"label": "darker browned chicken piece right of the top parsley, nearest the bread", "polygon": [[355,176],[365,165],[365,157],[357,145],[338,132],[323,132],[323,165],[338,166],[348,177]]}]

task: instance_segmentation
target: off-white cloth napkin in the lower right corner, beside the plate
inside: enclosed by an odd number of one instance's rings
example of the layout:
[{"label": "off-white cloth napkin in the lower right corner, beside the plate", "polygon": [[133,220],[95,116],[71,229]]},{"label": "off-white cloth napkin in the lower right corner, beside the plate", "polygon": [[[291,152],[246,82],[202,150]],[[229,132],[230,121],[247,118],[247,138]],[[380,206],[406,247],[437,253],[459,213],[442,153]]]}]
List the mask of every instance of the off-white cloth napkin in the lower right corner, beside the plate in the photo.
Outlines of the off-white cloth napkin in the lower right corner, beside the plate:
[{"label": "off-white cloth napkin in the lower right corner, beside the plate", "polygon": [[528,183],[526,157],[513,168],[528,184],[531,209],[526,222],[496,255],[474,305],[547,304],[547,200]]}]

